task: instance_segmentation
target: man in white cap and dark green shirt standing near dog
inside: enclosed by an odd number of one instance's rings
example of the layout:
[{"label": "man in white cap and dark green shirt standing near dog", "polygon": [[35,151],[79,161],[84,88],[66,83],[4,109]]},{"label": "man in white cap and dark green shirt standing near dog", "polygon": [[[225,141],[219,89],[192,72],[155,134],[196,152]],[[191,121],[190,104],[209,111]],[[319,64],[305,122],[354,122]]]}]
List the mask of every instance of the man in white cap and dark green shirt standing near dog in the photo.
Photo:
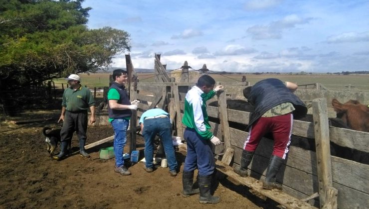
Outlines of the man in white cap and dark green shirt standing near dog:
[{"label": "man in white cap and dark green shirt standing near dog", "polygon": [[[76,74],[71,74],[65,80],[68,81],[69,88],[63,93],[61,104],[61,115],[58,120],[63,121],[60,131],[61,145],[60,153],[54,159],[60,160],[66,156],[68,141],[72,140],[73,132],[76,131],[79,138],[79,153],[83,157],[90,157],[85,150],[87,123],[92,125],[95,119],[95,100],[91,91],[83,87],[81,78]],[[87,109],[90,108],[91,116],[88,122]]]}]

